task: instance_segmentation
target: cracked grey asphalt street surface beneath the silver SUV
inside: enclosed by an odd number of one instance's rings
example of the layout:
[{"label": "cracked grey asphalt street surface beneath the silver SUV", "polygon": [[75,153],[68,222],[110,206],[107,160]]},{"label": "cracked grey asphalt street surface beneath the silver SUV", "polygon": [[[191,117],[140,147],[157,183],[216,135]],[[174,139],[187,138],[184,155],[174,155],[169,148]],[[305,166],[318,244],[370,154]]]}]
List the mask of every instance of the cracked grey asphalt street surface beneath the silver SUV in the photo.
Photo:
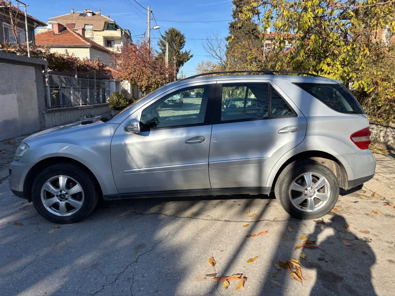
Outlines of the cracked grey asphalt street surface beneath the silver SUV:
[{"label": "cracked grey asphalt street surface beneath the silver SUV", "polygon": [[[261,195],[102,202],[84,221],[55,229],[33,204],[10,192],[5,178],[0,184],[0,294],[393,295],[395,194],[370,195],[366,188],[342,191],[337,213],[310,221],[291,218],[276,199]],[[248,217],[247,208],[258,218]],[[265,230],[266,235],[245,237]],[[318,248],[294,250],[303,235],[316,240]],[[285,269],[269,276],[276,271],[273,263],[299,259],[302,252],[307,256],[300,261],[303,285]],[[207,263],[211,255],[215,267]],[[240,291],[237,281],[225,290],[205,276],[215,272],[243,273],[247,281]]]}]

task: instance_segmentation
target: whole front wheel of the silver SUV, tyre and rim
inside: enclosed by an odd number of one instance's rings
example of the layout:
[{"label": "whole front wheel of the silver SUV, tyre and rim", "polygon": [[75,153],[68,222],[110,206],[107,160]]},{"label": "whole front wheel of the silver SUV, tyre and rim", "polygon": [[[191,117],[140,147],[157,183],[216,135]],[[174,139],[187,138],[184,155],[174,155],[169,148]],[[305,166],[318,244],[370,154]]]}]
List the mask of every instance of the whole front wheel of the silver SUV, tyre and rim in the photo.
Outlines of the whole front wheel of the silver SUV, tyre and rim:
[{"label": "whole front wheel of the silver SUV, tyre and rim", "polygon": [[84,219],[99,199],[94,177],[75,163],[59,163],[44,169],[32,188],[36,210],[54,223],[74,223]]}]

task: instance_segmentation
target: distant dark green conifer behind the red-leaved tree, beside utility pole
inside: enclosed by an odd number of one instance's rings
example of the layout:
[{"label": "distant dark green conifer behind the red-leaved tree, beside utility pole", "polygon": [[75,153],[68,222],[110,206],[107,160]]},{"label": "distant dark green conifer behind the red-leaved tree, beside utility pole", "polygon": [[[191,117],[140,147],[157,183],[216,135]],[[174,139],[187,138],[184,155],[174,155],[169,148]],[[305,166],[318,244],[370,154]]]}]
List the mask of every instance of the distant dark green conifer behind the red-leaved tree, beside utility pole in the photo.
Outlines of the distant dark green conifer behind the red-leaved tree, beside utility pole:
[{"label": "distant dark green conifer behind the red-leaved tree, beside utility pole", "polygon": [[[194,55],[191,54],[191,50],[184,50],[185,46],[185,35],[176,28],[169,28],[164,31],[164,35],[158,40],[158,46],[160,51],[158,57],[165,59],[166,56],[166,42],[169,44],[169,64],[173,64],[174,57],[176,57],[176,68],[180,69],[186,62],[188,62]],[[177,70],[178,73],[178,70]]]}]

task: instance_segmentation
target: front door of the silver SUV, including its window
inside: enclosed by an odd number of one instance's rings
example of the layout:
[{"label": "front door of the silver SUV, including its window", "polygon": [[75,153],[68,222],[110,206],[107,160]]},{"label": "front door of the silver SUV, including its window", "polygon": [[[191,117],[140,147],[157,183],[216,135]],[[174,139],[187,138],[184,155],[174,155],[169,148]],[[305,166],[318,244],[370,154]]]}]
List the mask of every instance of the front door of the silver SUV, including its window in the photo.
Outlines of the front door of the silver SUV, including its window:
[{"label": "front door of the silver SUV, including its window", "polygon": [[[214,93],[215,83],[184,86],[122,122],[111,144],[119,193],[210,188]],[[133,118],[140,120],[140,133],[125,131]]]}]

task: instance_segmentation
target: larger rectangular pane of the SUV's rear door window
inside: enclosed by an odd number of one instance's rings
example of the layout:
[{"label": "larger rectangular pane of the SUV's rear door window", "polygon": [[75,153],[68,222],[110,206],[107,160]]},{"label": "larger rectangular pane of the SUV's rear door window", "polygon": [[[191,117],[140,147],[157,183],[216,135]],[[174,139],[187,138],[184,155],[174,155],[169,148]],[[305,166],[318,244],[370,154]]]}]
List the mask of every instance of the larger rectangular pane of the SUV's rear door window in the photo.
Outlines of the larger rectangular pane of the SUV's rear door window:
[{"label": "larger rectangular pane of the SUV's rear door window", "polygon": [[221,121],[267,117],[268,95],[267,83],[223,84]]}]

